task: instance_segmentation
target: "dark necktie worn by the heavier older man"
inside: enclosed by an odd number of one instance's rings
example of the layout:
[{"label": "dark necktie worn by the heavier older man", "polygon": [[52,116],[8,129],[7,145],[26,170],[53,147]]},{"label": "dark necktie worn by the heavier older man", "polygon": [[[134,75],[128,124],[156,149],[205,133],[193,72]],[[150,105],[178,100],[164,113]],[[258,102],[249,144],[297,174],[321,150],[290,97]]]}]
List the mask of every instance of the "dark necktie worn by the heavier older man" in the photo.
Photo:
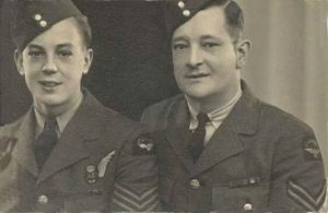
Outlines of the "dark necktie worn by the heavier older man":
[{"label": "dark necktie worn by the heavier older man", "polygon": [[197,119],[198,119],[198,127],[191,134],[189,141],[189,150],[191,152],[194,162],[198,159],[198,157],[200,156],[203,150],[203,140],[206,137],[206,123],[210,121],[208,115],[204,113],[199,113],[197,115]]}]

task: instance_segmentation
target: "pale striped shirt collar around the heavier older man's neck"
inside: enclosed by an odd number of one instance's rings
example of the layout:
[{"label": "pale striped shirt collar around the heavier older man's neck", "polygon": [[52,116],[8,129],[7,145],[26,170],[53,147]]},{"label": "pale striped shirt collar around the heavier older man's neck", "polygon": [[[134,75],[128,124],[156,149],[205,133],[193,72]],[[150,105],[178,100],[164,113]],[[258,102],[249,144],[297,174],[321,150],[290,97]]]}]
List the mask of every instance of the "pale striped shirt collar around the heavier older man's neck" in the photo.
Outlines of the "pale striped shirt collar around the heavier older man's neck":
[{"label": "pale striped shirt collar around the heavier older man's neck", "polygon": [[[229,102],[226,103],[224,106],[221,106],[212,111],[210,111],[208,114],[209,118],[210,118],[210,122],[207,123],[208,125],[212,125],[215,129],[219,128],[219,126],[221,125],[221,122],[223,121],[224,118],[226,118],[226,116],[230,114],[230,111],[233,109],[233,107],[235,106],[235,104],[238,102],[238,99],[242,97],[242,90],[239,88],[236,93],[236,95]],[[187,99],[187,105],[190,111],[190,125],[189,125],[189,129],[190,130],[195,130],[198,127],[198,120],[197,120],[197,115],[199,111],[197,111],[192,105],[189,103],[189,99]]]}]

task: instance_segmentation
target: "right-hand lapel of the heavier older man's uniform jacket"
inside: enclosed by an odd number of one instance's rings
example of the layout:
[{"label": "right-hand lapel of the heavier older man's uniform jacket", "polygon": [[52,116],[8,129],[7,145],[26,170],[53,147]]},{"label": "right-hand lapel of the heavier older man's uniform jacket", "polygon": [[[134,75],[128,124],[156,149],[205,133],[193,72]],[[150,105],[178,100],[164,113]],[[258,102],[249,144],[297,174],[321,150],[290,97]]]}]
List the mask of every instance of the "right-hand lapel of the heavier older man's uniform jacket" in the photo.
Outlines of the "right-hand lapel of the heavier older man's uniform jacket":
[{"label": "right-hand lapel of the heavier older man's uniform jacket", "polygon": [[197,176],[222,161],[243,152],[245,135],[256,132],[259,116],[258,100],[242,82],[243,95],[206,145],[195,164],[191,176]]}]

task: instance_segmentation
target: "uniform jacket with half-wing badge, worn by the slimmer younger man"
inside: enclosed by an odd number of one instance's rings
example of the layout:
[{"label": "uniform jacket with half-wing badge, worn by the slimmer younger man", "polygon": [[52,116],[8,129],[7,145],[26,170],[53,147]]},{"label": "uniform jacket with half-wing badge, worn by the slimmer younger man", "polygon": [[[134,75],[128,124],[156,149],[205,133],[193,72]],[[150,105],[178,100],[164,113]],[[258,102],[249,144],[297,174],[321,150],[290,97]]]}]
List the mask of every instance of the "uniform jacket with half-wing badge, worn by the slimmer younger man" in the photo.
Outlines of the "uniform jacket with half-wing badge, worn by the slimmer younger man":
[{"label": "uniform jacket with half-wing badge, worn by the slimmer younger man", "polygon": [[[147,211],[156,206],[155,156],[144,128],[84,99],[38,171],[34,110],[0,129],[0,212]],[[139,142],[139,143],[137,143]]]}]

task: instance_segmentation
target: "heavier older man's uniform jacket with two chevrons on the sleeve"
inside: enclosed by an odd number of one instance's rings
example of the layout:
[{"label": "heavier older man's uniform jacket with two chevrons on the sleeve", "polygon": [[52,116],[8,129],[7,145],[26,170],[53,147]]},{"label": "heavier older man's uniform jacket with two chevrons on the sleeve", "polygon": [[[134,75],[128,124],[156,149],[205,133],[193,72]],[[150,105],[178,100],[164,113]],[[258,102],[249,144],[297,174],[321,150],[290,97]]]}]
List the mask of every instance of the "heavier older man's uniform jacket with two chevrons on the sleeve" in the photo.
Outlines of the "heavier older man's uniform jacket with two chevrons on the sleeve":
[{"label": "heavier older man's uniform jacket with two chevrons on the sleeve", "polygon": [[325,175],[312,129],[254,97],[244,83],[242,90],[195,164],[188,151],[190,119],[184,95],[145,109],[142,121],[157,131],[160,191],[166,210],[317,211],[325,200]]}]

